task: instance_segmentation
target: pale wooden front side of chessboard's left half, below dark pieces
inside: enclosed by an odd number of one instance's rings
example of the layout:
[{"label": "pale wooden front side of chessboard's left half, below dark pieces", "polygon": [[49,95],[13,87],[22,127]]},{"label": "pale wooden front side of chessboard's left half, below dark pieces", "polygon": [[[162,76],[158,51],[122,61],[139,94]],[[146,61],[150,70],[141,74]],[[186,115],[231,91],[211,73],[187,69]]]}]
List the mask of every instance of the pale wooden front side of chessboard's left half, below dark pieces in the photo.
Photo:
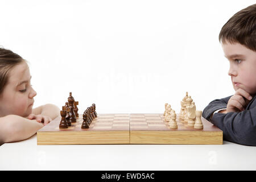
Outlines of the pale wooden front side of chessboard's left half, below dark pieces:
[{"label": "pale wooden front side of chessboard's left half, below dark pieces", "polygon": [[39,132],[38,145],[48,144],[129,144],[130,131]]}]

